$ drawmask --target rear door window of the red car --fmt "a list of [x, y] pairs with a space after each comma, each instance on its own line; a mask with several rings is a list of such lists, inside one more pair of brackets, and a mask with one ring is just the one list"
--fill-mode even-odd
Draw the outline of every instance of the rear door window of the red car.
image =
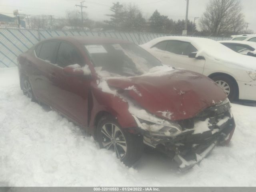
[[38, 57], [47, 62], [53, 62], [57, 45], [58, 45], [58, 42], [56, 41], [44, 42], [42, 44], [42, 48], [40, 50], [40, 54]]

